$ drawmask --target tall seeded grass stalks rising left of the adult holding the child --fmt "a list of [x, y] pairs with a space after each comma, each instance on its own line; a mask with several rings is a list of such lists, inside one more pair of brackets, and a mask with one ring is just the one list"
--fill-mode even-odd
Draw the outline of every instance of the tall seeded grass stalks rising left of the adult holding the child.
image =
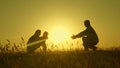
[[21, 42], [19, 44], [11, 43], [11, 41], [7, 39], [6, 44], [0, 44], [0, 51], [9, 53], [25, 52], [26, 44], [23, 37], [21, 37]]

